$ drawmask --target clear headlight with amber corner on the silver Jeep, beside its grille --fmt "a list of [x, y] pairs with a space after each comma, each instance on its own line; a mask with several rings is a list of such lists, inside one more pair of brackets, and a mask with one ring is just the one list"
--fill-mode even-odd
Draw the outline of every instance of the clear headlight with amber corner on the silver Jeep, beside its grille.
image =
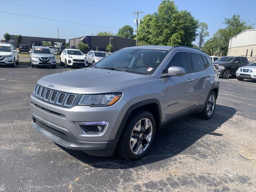
[[116, 103], [121, 96], [122, 93], [83, 95], [79, 105], [110, 106]]

